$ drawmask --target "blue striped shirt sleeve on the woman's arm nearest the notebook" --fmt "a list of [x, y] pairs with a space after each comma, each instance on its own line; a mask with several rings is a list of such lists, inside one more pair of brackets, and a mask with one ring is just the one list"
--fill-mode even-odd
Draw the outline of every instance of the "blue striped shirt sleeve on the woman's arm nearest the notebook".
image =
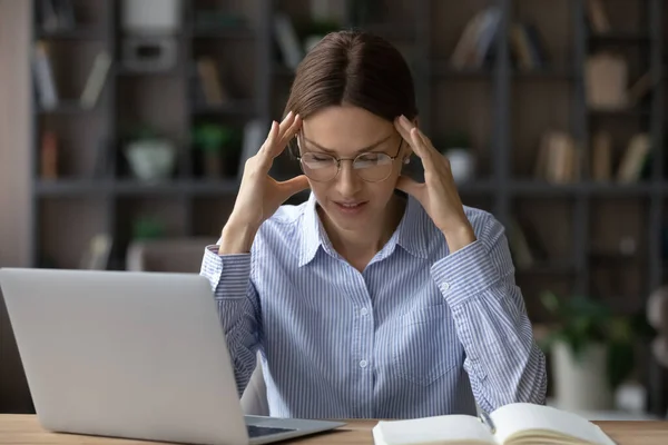
[[487, 215], [478, 239], [435, 263], [466, 352], [475, 399], [488, 412], [514, 402], [544, 404], [544, 355], [533, 339], [503, 226]]

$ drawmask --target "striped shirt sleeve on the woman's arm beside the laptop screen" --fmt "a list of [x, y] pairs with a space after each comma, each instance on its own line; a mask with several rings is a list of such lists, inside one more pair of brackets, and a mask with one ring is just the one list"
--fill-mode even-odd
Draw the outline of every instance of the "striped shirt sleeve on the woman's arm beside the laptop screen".
[[200, 275], [208, 278], [218, 303], [240, 397], [257, 362], [259, 298], [250, 279], [252, 254], [218, 255], [218, 248], [207, 246]]

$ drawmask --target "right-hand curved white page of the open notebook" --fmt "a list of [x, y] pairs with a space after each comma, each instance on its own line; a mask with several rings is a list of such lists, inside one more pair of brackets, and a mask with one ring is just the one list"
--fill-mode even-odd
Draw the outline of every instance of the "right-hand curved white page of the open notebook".
[[501, 444], [518, 432], [533, 429], [557, 432], [592, 444], [615, 445], [597, 425], [551, 406], [510, 404], [490, 414], [490, 418], [497, 427], [497, 441]]

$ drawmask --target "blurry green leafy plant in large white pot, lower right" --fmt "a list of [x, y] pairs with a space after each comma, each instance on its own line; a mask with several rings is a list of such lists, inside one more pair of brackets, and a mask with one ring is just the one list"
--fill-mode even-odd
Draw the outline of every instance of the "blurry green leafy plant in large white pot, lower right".
[[556, 404], [563, 409], [611, 409], [615, 390], [636, 366], [636, 342], [647, 324], [641, 315], [621, 316], [599, 300], [551, 291], [540, 297], [554, 317], [541, 348], [552, 359]]

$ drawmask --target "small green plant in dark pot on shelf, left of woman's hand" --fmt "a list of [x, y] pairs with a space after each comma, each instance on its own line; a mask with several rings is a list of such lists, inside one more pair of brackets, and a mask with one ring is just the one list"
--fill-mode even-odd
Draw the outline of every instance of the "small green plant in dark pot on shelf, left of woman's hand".
[[234, 140], [234, 130], [217, 123], [200, 123], [195, 127], [193, 144], [203, 152], [204, 172], [207, 178], [219, 178], [224, 161]]

